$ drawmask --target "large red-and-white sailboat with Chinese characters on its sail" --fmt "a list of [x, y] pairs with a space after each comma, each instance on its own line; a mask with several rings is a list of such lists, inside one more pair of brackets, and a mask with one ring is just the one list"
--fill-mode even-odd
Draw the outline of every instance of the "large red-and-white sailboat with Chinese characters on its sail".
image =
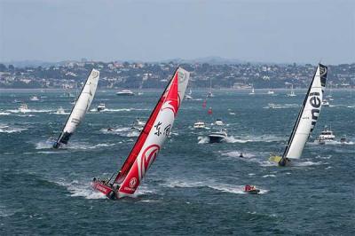
[[185, 96], [190, 73], [177, 67], [145, 127], [118, 173], [108, 180], [94, 178], [91, 186], [109, 199], [132, 196], [170, 135], [177, 110]]

